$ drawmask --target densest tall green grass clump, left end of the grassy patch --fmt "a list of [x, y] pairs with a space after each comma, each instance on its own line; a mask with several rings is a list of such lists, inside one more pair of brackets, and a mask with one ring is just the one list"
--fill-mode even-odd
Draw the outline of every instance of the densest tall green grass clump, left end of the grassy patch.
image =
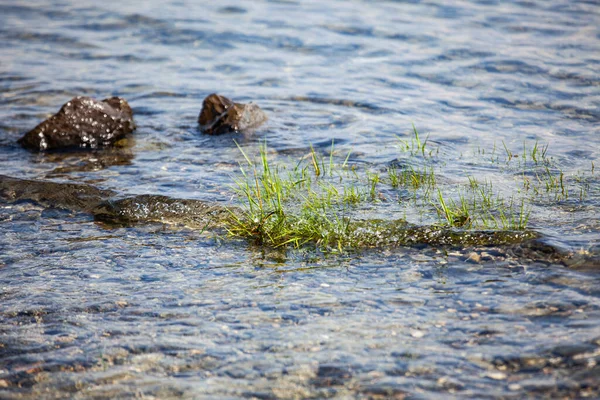
[[360, 203], [364, 195], [355, 185], [343, 186], [340, 191], [324, 179], [324, 175], [332, 175], [333, 159], [329, 169], [325, 168], [311, 147], [308, 163], [284, 171], [269, 163], [266, 146], [261, 147], [258, 163], [243, 154], [247, 167], [240, 168], [242, 177], [237, 179], [235, 191], [244, 208], [241, 215], [231, 212], [227, 228], [231, 235], [275, 247], [312, 242], [342, 250], [349, 244], [349, 219], [344, 210]]

